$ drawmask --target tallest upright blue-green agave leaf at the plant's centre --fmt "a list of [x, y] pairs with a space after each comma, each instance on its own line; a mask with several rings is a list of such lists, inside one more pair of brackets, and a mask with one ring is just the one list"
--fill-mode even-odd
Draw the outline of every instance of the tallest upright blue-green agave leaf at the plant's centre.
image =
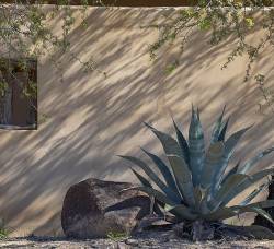
[[205, 142], [203, 128], [201, 126], [198, 115], [192, 108], [192, 119], [189, 129], [189, 146], [190, 146], [190, 168], [193, 177], [193, 185], [199, 183], [201, 173], [205, 161]]

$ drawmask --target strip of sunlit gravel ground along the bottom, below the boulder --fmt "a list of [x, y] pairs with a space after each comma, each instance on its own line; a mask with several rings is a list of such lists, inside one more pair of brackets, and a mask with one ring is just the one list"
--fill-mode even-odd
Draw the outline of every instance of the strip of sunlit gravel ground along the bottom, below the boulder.
[[102, 248], [102, 249], [128, 249], [128, 248], [239, 248], [239, 249], [273, 249], [274, 240], [216, 240], [208, 242], [191, 242], [172, 238], [167, 233], [155, 233], [146, 236], [121, 239], [114, 241], [111, 239], [93, 239], [93, 240], [66, 240], [65, 238], [12, 238], [0, 241], [0, 248], [50, 248], [50, 249], [78, 249], [78, 248]]

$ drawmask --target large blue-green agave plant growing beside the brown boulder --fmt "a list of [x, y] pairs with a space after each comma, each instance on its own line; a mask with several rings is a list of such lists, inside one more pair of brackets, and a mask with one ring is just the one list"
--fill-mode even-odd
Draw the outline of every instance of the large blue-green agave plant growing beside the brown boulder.
[[[144, 149], [144, 153], [156, 165], [161, 176], [144, 161], [132, 156], [122, 156], [137, 165], [146, 175], [140, 175], [132, 168], [141, 182], [140, 187], [134, 189], [153, 197], [165, 215], [167, 213], [170, 214], [176, 223], [182, 224], [183, 222], [187, 227], [191, 226], [189, 230], [191, 230], [194, 240], [213, 237], [213, 234], [216, 235], [218, 227], [224, 226], [244, 232], [246, 235], [254, 237], [274, 238], [274, 234], [265, 227], [237, 227], [224, 224], [224, 220], [246, 212], [256, 213], [274, 223], [272, 217], [263, 210], [274, 206], [274, 200], [252, 203], [270, 181], [262, 183], [260, 187], [255, 183], [274, 174], [274, 168], [260, 169], [258, 173], [250, 174], [256, 163], [273, 152], [274, 147], [262, 151], [244, 164], [239, 162], [236, 166], [228, 167], [236, 145], [251, 127], [239, 130], [226, 139], [229, 118], [224, 121], [224, 114], [225, 108], [214, 124], [207, 150], [205, 149], [198, 109], [192, 108], [189, 141], [186, 141], [174, 120], [176, 139], [145, 123], [160, 140], [169, 166], [160, 157]], [[230, 204], [236, 197], [242, 194], [250, 187], [253, 187], [252, 192], [246, 194], [237, 205]], [[212, 233], [208, 233], [208, 230]]]

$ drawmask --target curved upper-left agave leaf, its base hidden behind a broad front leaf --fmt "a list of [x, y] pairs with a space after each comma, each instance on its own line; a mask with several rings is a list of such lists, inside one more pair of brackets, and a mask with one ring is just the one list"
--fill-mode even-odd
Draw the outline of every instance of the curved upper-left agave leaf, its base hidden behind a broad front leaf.
[[157, 129], [155, 129], [153, 127], [149, 126], [146, 122], [145, 122], [145, 126], [148, 127], [156, 134], [156, 137], [160, 140], [165, 154], [174, 154], [174, 155], [183, 157], [181, 147], [178, 144], [176, 140], [174, 140], [172, 137], [170, 137], [167, 133], [158, 131]]

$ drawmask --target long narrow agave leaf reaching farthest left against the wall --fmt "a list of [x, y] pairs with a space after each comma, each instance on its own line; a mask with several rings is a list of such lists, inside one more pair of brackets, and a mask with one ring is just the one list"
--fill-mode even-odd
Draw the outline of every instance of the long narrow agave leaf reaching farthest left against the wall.
[[174, 192], [170, 187], [168, 187], [141, 159], [138, 159], [133, 156], [121, 156], [121, 157], [140, 167], [148, 175], [148, 177], [160, 188], [160, 190], [163, 191], [173, 201], [181, 200], [181, 197], [176, 192]]

